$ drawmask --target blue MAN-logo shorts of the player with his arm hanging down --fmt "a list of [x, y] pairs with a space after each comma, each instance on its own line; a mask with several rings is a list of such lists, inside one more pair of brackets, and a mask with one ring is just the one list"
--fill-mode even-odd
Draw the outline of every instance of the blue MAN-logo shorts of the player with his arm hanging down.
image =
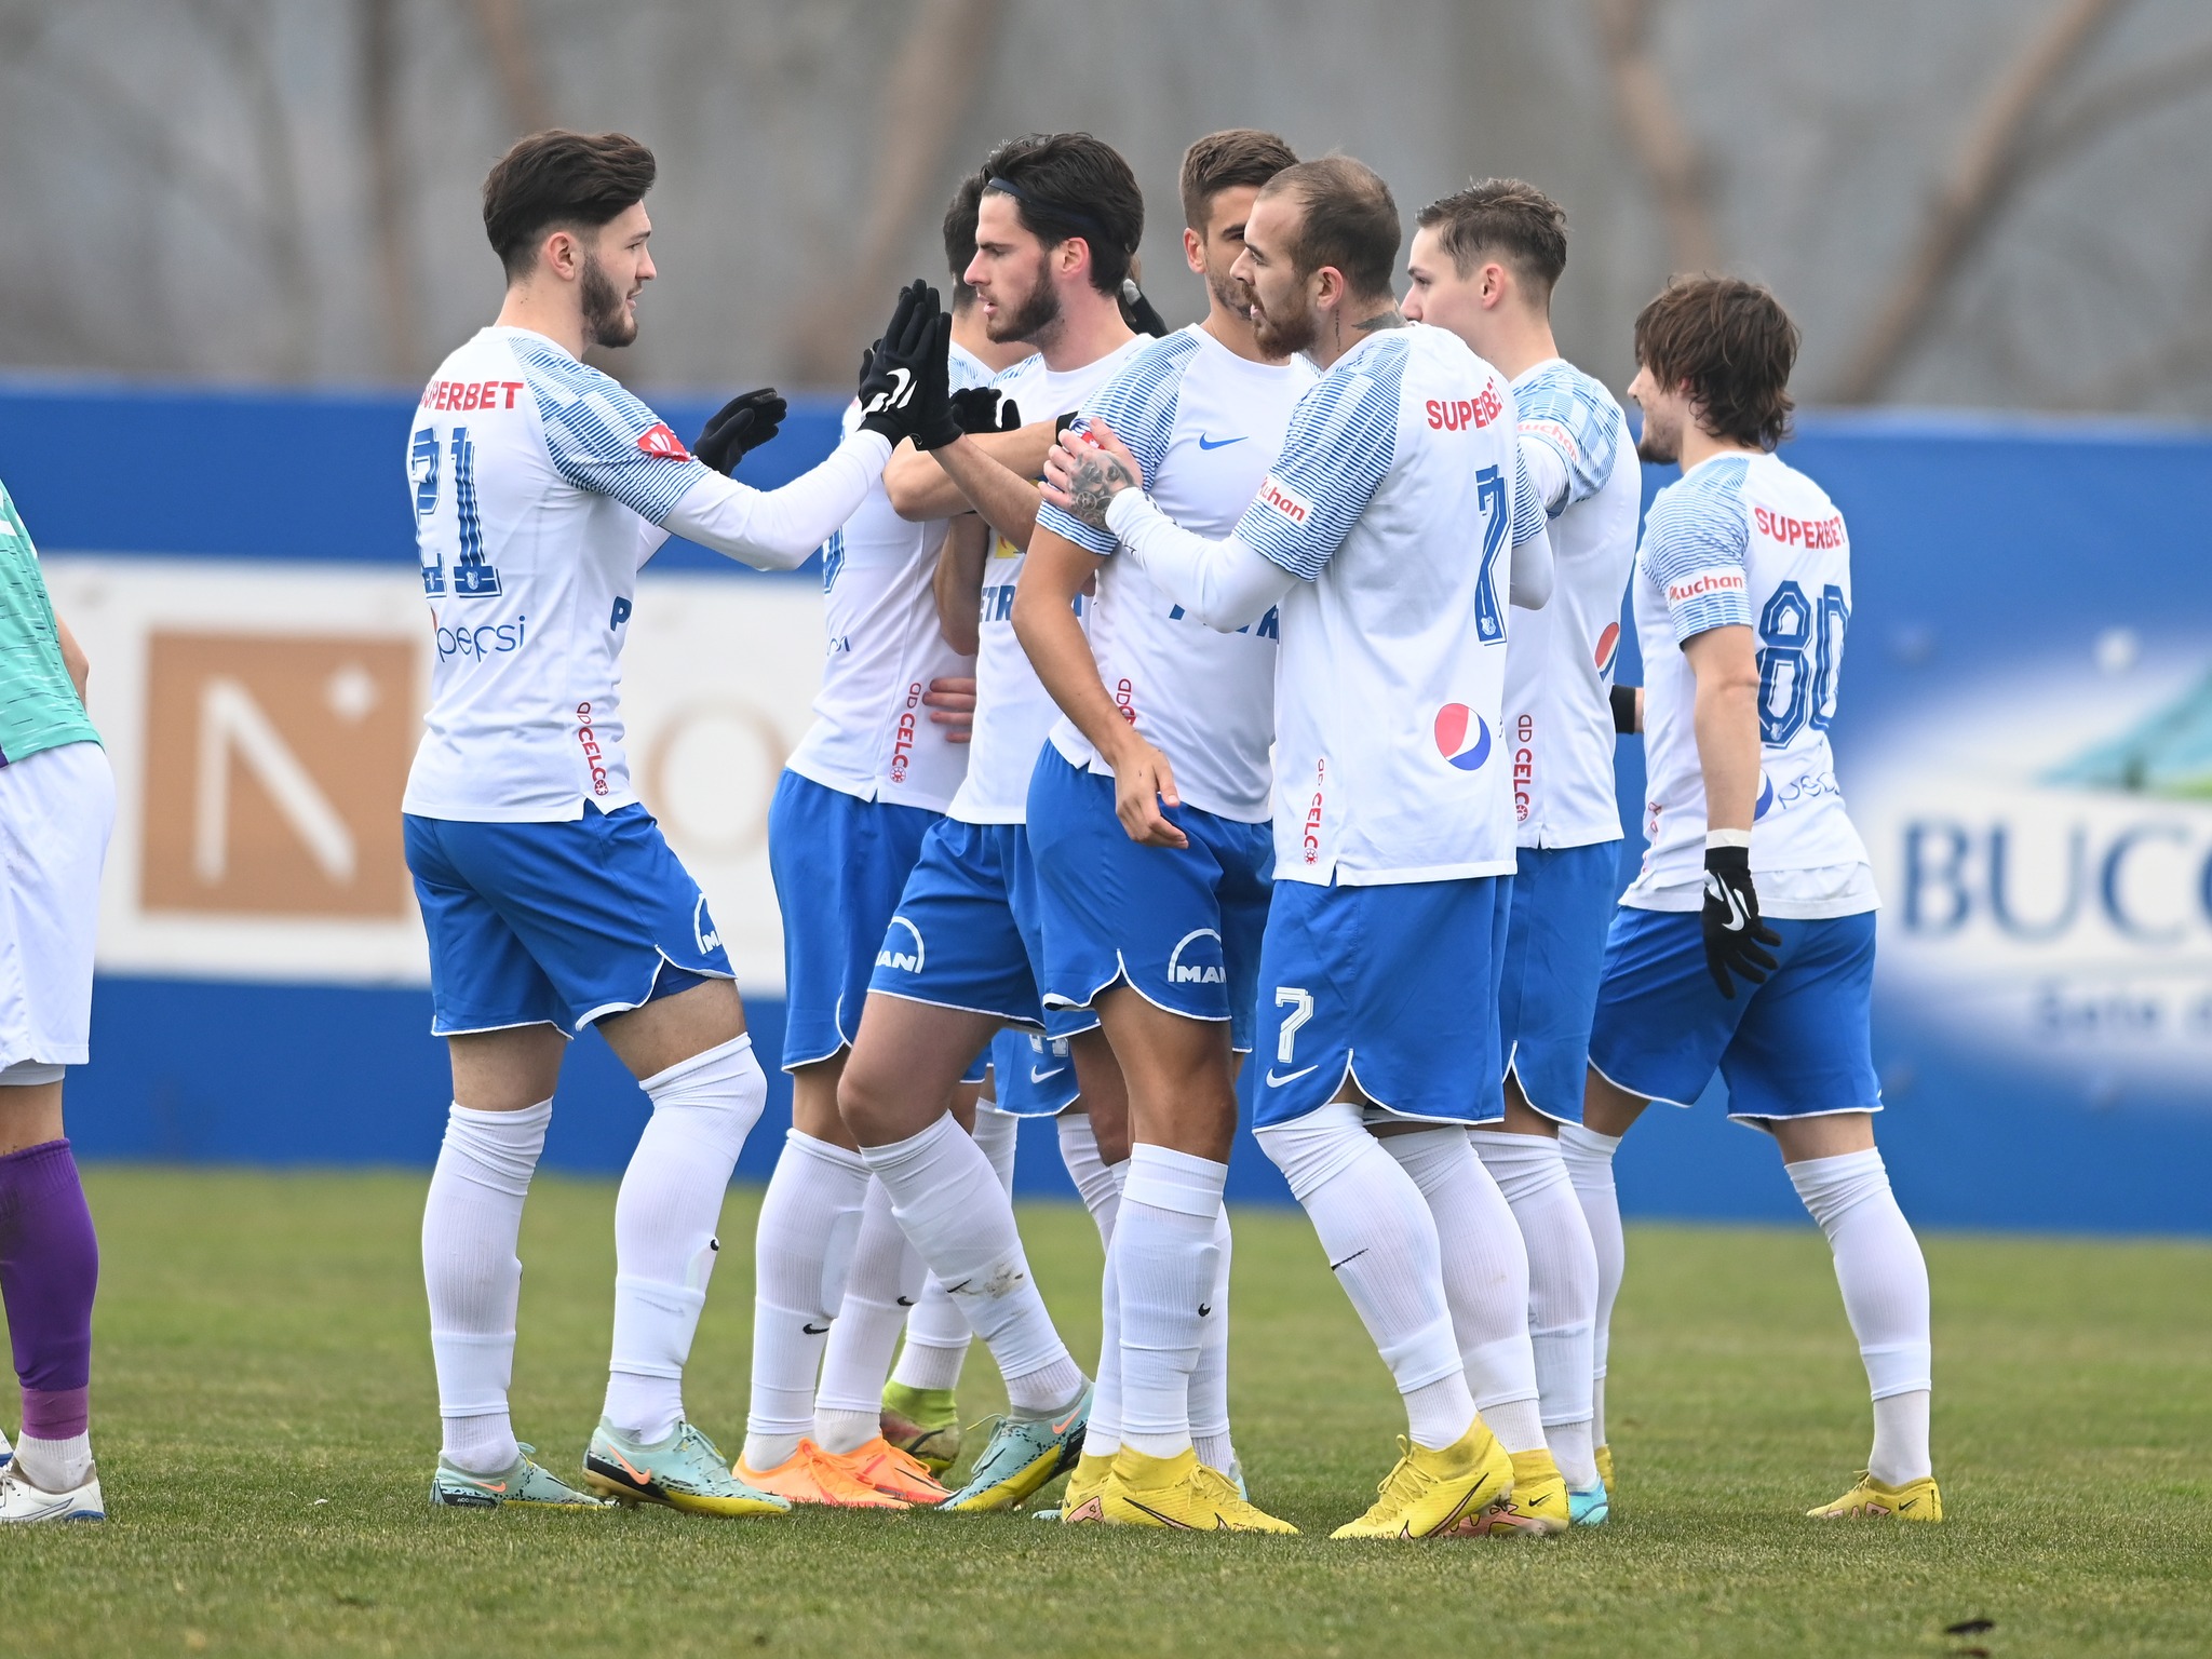
[[1139, 847], [1113, 779], [1046, 743], [1029, 779], [1029, 849], [1044, 911], [1044, 1004], [1088, 1009], [1126, 980], [1190, 1020], [1228, 1020], [1252, 1048], [1259, 940], [1274, 887], [1274, 827], [1168, 807], [1188, 847]]

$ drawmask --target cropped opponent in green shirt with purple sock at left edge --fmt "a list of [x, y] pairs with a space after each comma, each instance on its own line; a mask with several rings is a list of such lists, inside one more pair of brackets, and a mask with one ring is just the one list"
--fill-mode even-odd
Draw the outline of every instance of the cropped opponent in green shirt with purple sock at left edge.
[[0, 1310], [22, 1387], [20, 1444], [0, 1436], [0, 1526], [106, 1517], [91, 1442], [100, 1237], [62, 1128], [115, 825], [86, 672], [0, 489]]

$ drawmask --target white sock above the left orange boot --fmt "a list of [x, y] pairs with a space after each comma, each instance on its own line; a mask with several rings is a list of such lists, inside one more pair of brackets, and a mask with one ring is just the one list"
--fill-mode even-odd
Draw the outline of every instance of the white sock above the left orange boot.
[[814, 1431], [814, 1380], [845, 1301], [865, 1203], [867, 1164], [858, 1152], [796, 1128], [783, 1137], [752, 1241], [748, 1469], [787, 1462]]

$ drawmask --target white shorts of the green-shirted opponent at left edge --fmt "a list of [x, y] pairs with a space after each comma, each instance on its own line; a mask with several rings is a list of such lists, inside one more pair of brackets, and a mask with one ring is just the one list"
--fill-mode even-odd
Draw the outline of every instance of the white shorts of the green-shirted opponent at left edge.
[[82, 1066], [115, 774], [97, 743], [0, 765], [0, 1084]]

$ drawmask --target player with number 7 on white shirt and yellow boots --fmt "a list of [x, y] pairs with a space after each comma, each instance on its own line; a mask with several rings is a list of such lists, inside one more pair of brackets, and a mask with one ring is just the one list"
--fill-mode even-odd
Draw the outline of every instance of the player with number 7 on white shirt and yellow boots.
[[[1467, 1126], [1502, 1113], [1498, 973], [1513, 874], [1506, 606], [1551, 586], [1513, 389], [1389, 292], [1398, 208], [1347, 157], [1279, 173], [1237, 274], [1263, 352], [1323, 369], [1225, 540], [1170, 520], [1108, 422], [1071, 431], [1051, 500], [1104, 524], [1172, 604], [1234, 630], [1281, 606], [1274, 902], [1254, 1128], [1407, 1405], [1409, 1451], [1336, 1537], [1493, 1526], [1515, 1462], [1475, 1411], [1464, 1332], [1526, 1256]], [[1526, 1298], [1517, 1312], [1526, 1349]]]

